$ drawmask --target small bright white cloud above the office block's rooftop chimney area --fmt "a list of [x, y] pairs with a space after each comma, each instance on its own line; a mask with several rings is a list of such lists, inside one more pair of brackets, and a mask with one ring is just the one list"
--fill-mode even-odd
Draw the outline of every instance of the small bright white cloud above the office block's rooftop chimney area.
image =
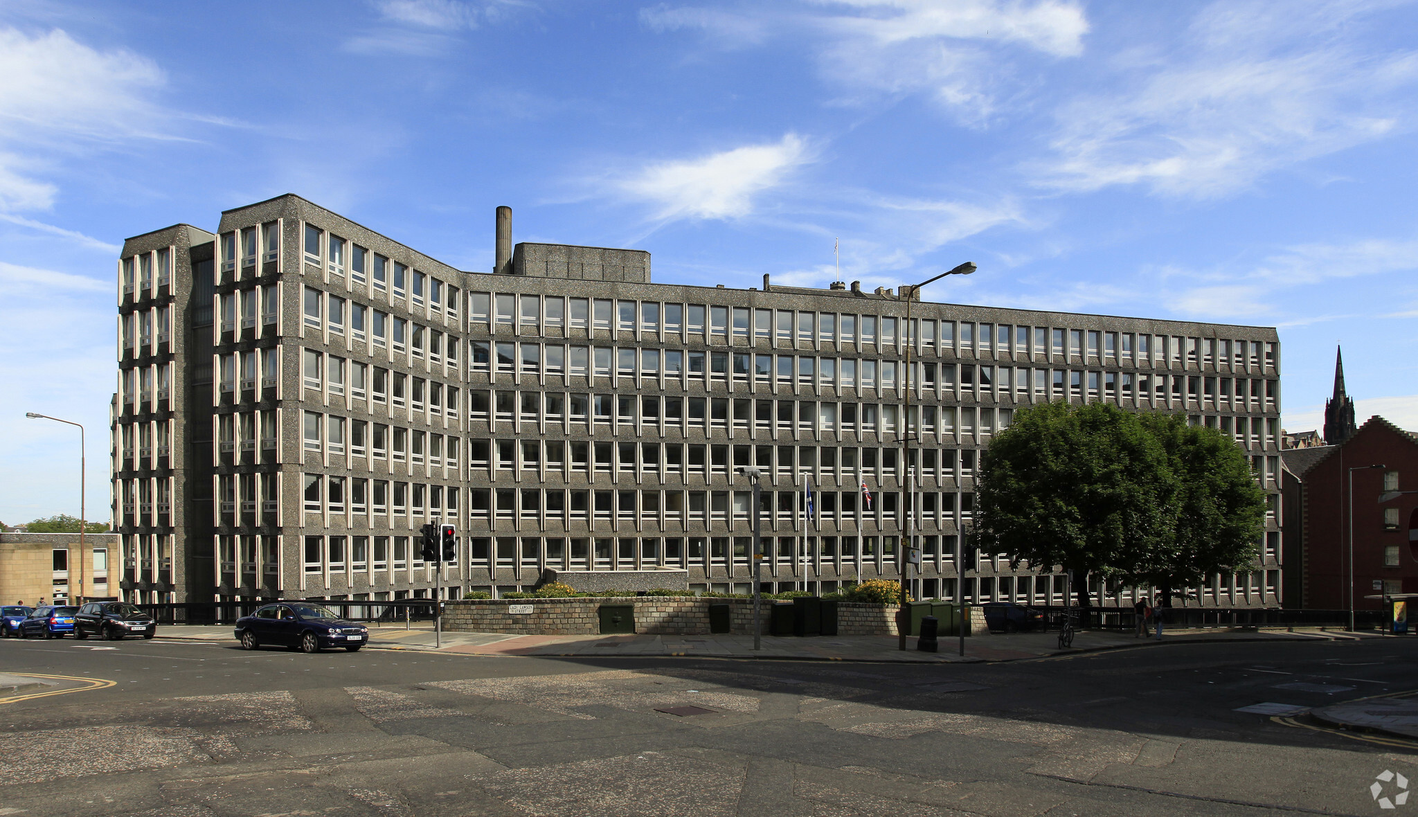
[[757, 194], [811, 160], [807, 142], [788, 133], [778, 142], [649, 165], [620, 186], [655, 206], [659, 220], [739, 218], [753, 211]]

